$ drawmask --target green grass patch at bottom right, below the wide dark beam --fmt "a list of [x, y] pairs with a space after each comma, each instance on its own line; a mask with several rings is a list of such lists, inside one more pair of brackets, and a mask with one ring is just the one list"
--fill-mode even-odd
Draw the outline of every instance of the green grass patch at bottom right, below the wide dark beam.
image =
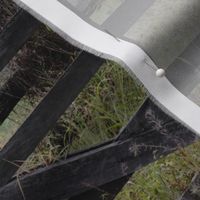
[[200, 170], [199, 153], [196, 143], [141, 169], [117, 200], [178, 200]]

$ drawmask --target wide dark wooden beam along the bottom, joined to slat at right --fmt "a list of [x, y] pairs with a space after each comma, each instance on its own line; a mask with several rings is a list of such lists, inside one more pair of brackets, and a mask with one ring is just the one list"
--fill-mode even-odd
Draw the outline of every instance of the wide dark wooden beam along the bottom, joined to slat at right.
[[99, 191], [102, 186], [123, 179], [160, 156], [198, 139], [150, 100], [127, 127], [124, 131], [129, 138], [113, 140], [25, 175], [2, 187], [0, 198], [22, 200], [23, 193], [29, 200], [75, 199], [91, 189]]

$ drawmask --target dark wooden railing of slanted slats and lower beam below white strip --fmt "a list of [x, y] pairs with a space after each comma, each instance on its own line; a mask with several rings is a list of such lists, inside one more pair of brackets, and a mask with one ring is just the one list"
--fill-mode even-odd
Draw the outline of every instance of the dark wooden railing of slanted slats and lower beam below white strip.
[[[0, 70], [39, 25], [40, 22], [25, 11], [17, 12], [0, 34]], [[112, 200], [139, 168], [199, 139], [147, 98], [116, 138], [16, 178], [22, 164], [17, 161], [26, 160], [35, 150], [103, 62], [99, 57], [80, 51], [0, 151], [1, 200]], [[21, 97], [23, 95], [22, 91]], [[19, 99], [12, 101], [1, 121]], [[199, 180], [198, 176], [195, 180]], [[182, 200], [198, 198], [190, 189]]]

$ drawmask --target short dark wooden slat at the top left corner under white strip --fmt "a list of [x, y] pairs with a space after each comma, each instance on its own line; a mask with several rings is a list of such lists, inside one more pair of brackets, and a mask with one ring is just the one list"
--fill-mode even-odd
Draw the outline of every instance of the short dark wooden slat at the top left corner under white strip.
[[30, 38], [40, 22], [20, 10], [0, 34], [0, 71]]

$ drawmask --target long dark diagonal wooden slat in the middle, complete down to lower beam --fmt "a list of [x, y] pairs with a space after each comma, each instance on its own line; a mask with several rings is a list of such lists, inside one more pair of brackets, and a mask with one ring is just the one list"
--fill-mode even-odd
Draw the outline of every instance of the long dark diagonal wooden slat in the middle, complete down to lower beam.
[[0, 152], [0, 186], [6, 184], [15, 174], [22, 164], [17, 161], [25, 160], [34, 151], [102, 63], [101, 58], [83, 52], [68, 67], [52, 90]]

